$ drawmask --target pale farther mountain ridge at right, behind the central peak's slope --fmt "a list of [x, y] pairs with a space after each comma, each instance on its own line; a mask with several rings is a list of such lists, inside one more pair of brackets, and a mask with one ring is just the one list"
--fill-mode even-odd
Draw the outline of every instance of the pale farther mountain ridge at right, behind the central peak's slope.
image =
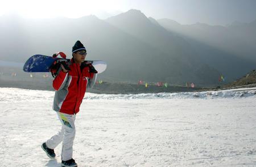
[[233, 22], [226, 27], [203, 23], [181, 25], [175, 24], [175, 21], [170, 19], [157, 21], [171, 32], [180, 33], [230, 54], [256, 62], [256, 49], [254, 47], [256, 20], [251, 23]]

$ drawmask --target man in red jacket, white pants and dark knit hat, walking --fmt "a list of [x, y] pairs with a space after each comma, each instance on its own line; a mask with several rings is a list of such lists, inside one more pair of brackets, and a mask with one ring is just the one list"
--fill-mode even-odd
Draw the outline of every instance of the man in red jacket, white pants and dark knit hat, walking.
[[[84, 98], [86, 86], [96, 78], [97, 71], [91, 64], [86, 64], [86, 49], [80, 41], [72, 48], [73, 58], [68, 65], [60, 65], [59, 72], [53, 80], [55, 97], [53, 110], [62, 124], [61, 130], [51, 139], [42, 144], [42, 149], [51, 159], [55, 158], [54, 148], [63, 142], [61, 152], [61, 166], [77, 166], [73, 160], [73, 140], [75, 139], [75, 118]], [[69, 69], [69, 70], [68, 70]]]

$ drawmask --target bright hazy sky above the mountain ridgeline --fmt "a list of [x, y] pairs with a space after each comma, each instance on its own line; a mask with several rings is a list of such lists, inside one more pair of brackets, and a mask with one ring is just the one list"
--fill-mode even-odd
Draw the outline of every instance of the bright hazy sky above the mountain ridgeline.
[[15, 13], [32, 18], [65, 16], [100, 18], [141, 10], [155, 19], [169, 18], [181, 24], [196, 22], [226, 25], [256, 20], [256, 0], [0, 0], [0, 15]]

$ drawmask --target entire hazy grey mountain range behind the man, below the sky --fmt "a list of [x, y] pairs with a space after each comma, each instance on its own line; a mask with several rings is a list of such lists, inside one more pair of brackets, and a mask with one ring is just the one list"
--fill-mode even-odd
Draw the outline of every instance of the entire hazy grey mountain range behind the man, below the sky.
[[[256, 22], [255, 22], [256, 23]], [[34, 54], [64, 52], [80, 40], [86, 59], [102, 59], [108, 68], [100, 78], [113, 82], [168, 82], [217, 85], [240, 78], [256, 66], [256, 24], [228, 27], [181, 25], [170, 19], [147, 18], [139, 10], [101, 20], [0, 17], [0, 60], [24, 62]]]

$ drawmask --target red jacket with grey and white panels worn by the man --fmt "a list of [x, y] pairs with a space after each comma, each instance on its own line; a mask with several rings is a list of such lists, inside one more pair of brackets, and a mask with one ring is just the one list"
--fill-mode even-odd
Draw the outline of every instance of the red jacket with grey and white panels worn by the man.
[[96, 79], [96, 74], [89, 72], [89, 67], [83, 64], [79, 66], [69, 62], [67, 73], [62, 70], [53, 80], [55, 97], [53, 101], [53, 110], [65, 114], [77, 114], [84, 98], [86, 87], [92, 85]]

